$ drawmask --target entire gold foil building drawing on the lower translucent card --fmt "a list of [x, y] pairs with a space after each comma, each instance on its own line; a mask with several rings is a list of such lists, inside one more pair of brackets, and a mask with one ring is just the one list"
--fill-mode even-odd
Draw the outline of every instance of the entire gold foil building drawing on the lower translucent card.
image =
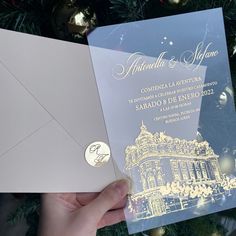
[[148, 131], [142, 122], [135, 144], [125, 149], [125, 169], [135, 183], [128, 209], [148, 219], [217, 202], [236, 187], [222, 174], [207, 141], [173, 138]]

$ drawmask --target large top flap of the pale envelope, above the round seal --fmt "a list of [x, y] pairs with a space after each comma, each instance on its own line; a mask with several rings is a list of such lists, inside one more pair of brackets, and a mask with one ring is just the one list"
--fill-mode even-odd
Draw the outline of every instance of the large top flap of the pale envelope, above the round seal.
[[1, 61], [82, 147], [107, 140], [85, 45], [6, 30]]

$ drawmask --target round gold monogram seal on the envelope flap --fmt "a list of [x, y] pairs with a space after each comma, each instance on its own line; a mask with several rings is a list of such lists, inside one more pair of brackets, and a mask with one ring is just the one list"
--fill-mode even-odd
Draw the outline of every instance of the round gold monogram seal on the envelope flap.
[[110, 148], [104, 142], [93, 142], [85, 150], [85, 159], [93, 167], [105, 165], [110, 157]]

